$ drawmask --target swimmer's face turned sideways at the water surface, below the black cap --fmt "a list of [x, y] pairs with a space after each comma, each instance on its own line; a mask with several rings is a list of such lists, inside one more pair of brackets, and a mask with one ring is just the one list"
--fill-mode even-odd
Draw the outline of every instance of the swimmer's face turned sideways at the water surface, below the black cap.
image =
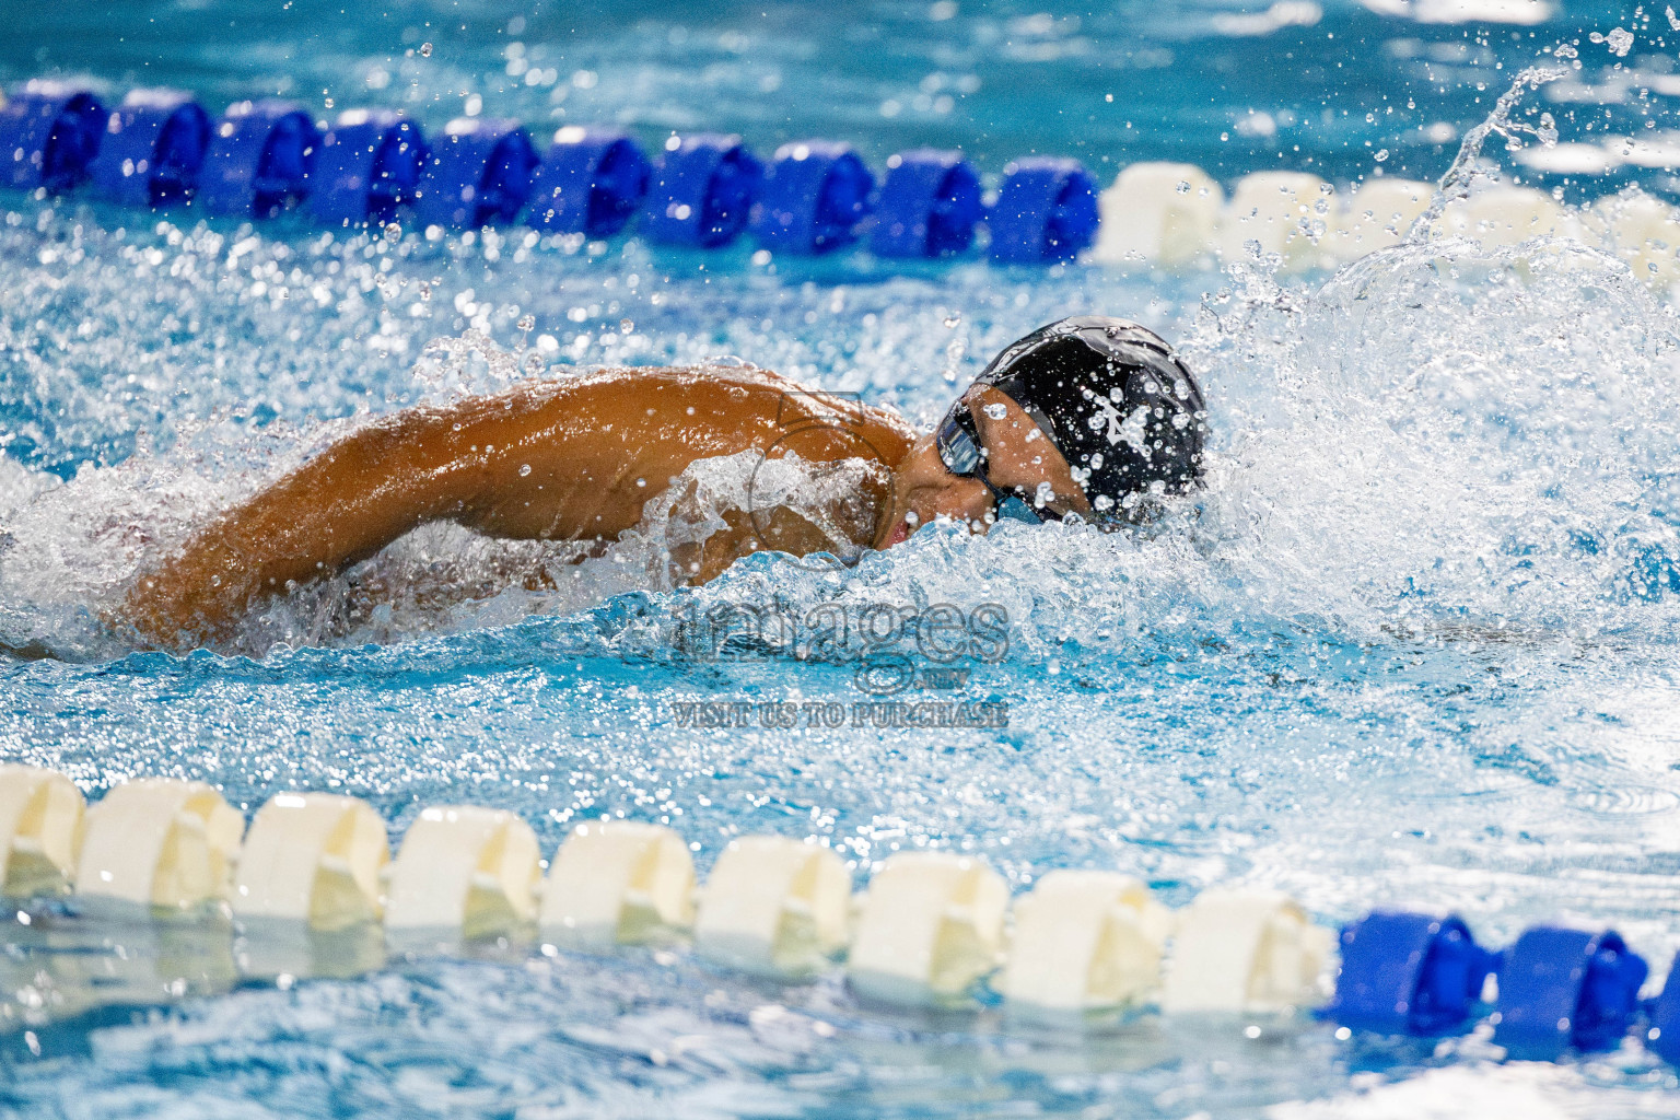
[[[979, 443], [986, 448], [984, 467], [993, 485], [1043, 495], [1040, 512], [1050, 517], [1068, 512], [1092, 516], [1067, 460], [1020, 405], [990, 385], [976, 385], [963, 395], [963, 401], [973, 413]], [[941, 517], [963, 522], [973, 532], [986, 532], [993, 522], [993, 495], [979, 479], [951, 474], [929, 433], [899, 463], [892, 504], [875, 531], [875, 547], [890, 549]]]

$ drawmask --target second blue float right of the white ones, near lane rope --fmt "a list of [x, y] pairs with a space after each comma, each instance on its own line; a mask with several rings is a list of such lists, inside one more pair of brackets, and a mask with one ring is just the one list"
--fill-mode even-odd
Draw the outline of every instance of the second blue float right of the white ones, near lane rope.
[[1648, 972], [1614, 930], [1524, 930], [1499, 967], [1494, 1041], [1514, 1058], [1608, 1049], [1628, 1033]]

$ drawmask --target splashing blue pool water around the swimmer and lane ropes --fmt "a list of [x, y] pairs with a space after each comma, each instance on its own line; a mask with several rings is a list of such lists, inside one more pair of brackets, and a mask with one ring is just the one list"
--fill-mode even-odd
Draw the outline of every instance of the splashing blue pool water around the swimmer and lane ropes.
[[[650, 144], [696, 126], [759, 149], [837, 136], [875, 166], [961, 144], [993, 181], [1028, 151], [1104, 181], [1154, 158], [1225, 181], [1433, 178], [1559, 44], [1581, 67], [1519, 119], [1551, 113], [1566, 143], [1667, 138], [1680, 91], [1663, 13], [1613, 3], [1504, 5], [1532, 24], [1431, 22], [1458, 18], [1446, 0], [386, 7], [13, 0], [0, 81], [388, 104], [428, 128], [464, 111], [613, 121]], [[1625, 54], [1604, 40], [1616, 27], [1635, 34]], [[1492, 154], [1576, 201], [1677, 186], [1660, 166], [1566, 178]], [[230, 650], [134, 653], [102, 620], [148, 557], [358, 416], [581, 364], [732, 354], [929, 421], [1000, 346], [1079, 311], [1179, 339], [1203, 374], [1208, 490], [1147, 534], [931, 529], [855, 568], [756, 557], [699, 591], [664, 588], [648, 546], [627, 542], [531, 593], [524, 574], [563, 556], [428, 529], [276, 603]], [[254, 230], [5, 193], [0, 645], [17, 653], [0, 655], [0, 757], [89, 794], [202, 777], [247, 811], [282, 789], [353, 793], [393, 836], [427, 804], [480, 803], [521, 813], [544, 851], [622, 814], [674, 824], [701, 868], [731, 836], [774, 831], [832, 843], [858, 880], [937, 846], [1016, 890], [1105, 866], [1171, 905], [1280, 887], [1327, 924], [1446, 905], [1494, 944], [1593, 919], [1660, 977], [1680, 947], [1675, 343], [1672, 311], [1616, 260], [1547, 269], [1463, 243], [1304, 279], [889, 269], [517, 228]], [[685, 727], [696, 700], [869, 699], [853, 665], [696, 657], [679, 621], [727, 603], [1000, 604], [1006, 657], [900, 699], [1005, 704], [1008, 727]], [[1156, 1018], [1079, 1036], [998, 1011], [860, 1009], [833, 977], [778, 987], [680, 954], [521, 945], [234, 987], [215, 937], [102, 937], [82, 945], [97, 981], [34, 976], [18, 952], [0, 966], [0, 1108], [1680, 1112], [1673, 1071], [1631, 1044], [1500, 1065], [1475, 1036], [1339, 1041], [1309, 1019], [1260, 1038]], [[171, 967], [181, 984], [160, 997], [148, 977]]]

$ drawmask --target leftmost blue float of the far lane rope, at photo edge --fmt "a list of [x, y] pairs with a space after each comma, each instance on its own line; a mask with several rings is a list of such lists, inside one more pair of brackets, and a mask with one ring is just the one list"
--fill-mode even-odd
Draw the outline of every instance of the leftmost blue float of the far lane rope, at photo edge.
[[0, 181], [49, 191], [87, 178], [99, 154], [106, 111], [84, 86], [34, 79], [0, 106]]

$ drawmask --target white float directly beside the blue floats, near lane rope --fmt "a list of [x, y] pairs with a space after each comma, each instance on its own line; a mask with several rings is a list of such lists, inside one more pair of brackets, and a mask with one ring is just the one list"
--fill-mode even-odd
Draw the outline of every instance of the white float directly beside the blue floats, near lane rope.
[[1284, 1014], [1324, 1001], [1336, 944], [1275, 890], [1208, 888], [1178, 913], [1161, 1011]]

